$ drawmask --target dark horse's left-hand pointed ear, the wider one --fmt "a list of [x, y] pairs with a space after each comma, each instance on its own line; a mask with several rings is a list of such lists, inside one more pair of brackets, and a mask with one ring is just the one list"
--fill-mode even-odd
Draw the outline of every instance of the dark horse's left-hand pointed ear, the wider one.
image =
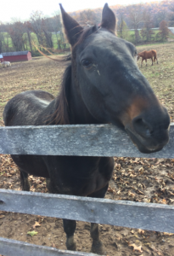
[[61, 13], [62, 13], [62, 20], [65, 27], [65, 34], [68, 38], [69, 43], [73, 46], [76, 44], [81, 32], [83, 31], [82, 26], [74, 20], [70, 15], [65, 12], [65, 9], [62, 7], [62, 4], [59, 3]]

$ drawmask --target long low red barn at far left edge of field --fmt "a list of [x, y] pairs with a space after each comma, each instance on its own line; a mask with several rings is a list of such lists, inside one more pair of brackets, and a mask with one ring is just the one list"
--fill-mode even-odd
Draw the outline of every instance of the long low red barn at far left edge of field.
[[25, 51], [14, 51], [14, 52], [2, 52], [3, 61], [30, 61], [31, 52], [29, 50]]

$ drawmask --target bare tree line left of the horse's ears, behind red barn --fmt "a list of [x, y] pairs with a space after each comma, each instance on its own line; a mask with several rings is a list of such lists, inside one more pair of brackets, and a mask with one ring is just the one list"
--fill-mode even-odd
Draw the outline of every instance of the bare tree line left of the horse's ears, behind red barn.
[[20, 20], [7, 24], [0, 22], [0, 53], [30, 50], [32, 55], [39, 55], [37, 49], [49, 51], [49, 49], [59, 50], [65, 47], [59, 13], [45, 18], [41, 11], [35, 11], [31, 13], [30, 20], [25, 22]]

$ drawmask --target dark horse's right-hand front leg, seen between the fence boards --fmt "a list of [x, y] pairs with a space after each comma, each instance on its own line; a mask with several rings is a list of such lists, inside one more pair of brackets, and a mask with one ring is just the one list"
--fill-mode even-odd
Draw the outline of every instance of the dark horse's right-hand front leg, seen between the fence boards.
[[[97, 198], [104, 198], [104, 195], [108, 189], [108, 186], [105, 186], [103, 189], [98, 190], [97, 192], [94, 192], [91, 195], [88, 195], [90, 197], [97, 197]], [[92, 244], [92, 253], [98, 253], [100, 255], [106, 254], [105, 247], [99, 239], [99, 230], [98, 230], [98, 224], [96, 223], [91, 223], [91, 230], [90, 230], [91, 237], [93, 239], [93, 244]]]

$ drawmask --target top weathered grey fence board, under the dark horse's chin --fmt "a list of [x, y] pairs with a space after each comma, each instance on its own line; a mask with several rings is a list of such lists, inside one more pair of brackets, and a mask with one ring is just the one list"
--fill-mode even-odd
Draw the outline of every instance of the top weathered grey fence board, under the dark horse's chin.
[[126, 133], [114, 125], [0, 127], [0, 154], [174, 158], [174, 124], [170, 142], [152, 154], [141, 154]]

